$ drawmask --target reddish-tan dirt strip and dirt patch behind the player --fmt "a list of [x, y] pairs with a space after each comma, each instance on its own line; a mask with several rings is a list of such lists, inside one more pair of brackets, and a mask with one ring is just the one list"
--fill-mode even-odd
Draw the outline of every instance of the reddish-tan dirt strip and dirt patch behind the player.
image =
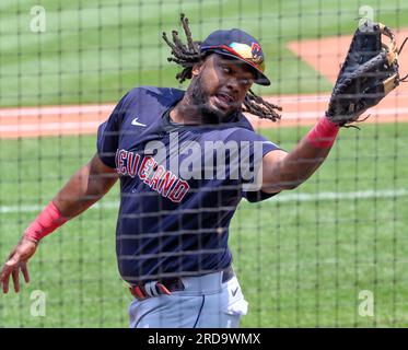
[[[397, 33], [398, 38], [408, 36], [408, 28]], [[288, 47], [312, 68], [335, 82], [351, 36], [289, 43]], [[399, 40], [401, 42], [401, 39]], [[327, 50], [330, 48], [330, 50]], [[408, 51], [400, 57], [401, 74], [408, 72]], [[365, 122], [407, 122], [408, 84], [401, 84], [380, 106], [368, 112], [371, 118]], [[248, 116], [255, 128], [313, 125], [326, 110], [329, 95], [280, 95], [269, 101], [283, 107], [282, 120], [272, 122]], [[0, 109], [0, 138], [93, 135], [114, 108], [107, 105], [44, 106]]]

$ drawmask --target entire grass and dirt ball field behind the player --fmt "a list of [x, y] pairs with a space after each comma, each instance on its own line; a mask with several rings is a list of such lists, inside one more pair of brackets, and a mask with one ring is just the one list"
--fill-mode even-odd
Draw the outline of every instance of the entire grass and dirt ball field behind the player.
[[[179, 86], [161, 34], [180, 30], [180, 12], [195, 39], [229, 27], [259, 38], [272, 84], [255, 90], [284, 113], [279, 124], [254, 124], [290, 150], [325, 110], [368, 7], [400, 44], [404, 0], [2, 0], [1, 259], [94, 154], [96, 127], [120, 96], [141, 84]], [[241, 203], [230, 243], [249, 302], [244, 327], [408, 326], [406, 100], [403, 86], [361, 131], [342, 130], [328, 161], [299, 189]], [[114, 248], [117, 201], [115, 186], [42, 243], [32, 282], [0, 296], [0, 327], [127, 327], [131, 296]], [[31, 313], [35, 290], [47, 296], [44, 317]], [[362, 291], [374, 296], [373, 315], [361, 313]]]

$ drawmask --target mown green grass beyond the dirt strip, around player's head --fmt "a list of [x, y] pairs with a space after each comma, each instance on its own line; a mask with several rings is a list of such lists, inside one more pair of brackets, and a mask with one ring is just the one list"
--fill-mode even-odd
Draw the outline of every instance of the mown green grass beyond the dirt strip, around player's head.
[[[30, 31], [35, 4], [46, 10], [42, 34]], [[273, 81], [259, 92], [329, 91], [331, 85], [285, 45], [351, 34], [361, 5], [372, 5], [375, 19], [392, 27], [408, 25], [408, 4], [400, 0], [2, 0], [0, 106], [116, 102], [133, 85], [177, 85], [177, 67], [166, 60], [170, 48], [161, 33], [182, 31], [182, 11], [197, 40], [236, 26], [259, 38]]]

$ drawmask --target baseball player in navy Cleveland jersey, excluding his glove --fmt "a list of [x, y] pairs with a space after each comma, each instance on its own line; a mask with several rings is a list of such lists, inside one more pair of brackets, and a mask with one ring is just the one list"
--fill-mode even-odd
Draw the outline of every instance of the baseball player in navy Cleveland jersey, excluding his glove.
[[[176, 32], [173, 43], [163, 37], [172, 48], [170, 60], [184, 68], [177, 79], [191, 80], [187, 90], [139, 86], [120, 100], [98, 128], [96, 154], [10, 254], [0, 277], [4, 293], [10, 278], [19, 292], [20, 271], [30, 281], [27, 260], [42, 238], [119, 179], [116, 253], [135, 296], [130, 327], [238, 327], [247, 302], [228, 238], [241, 199], [264, 200], [305, 182], [328, 155], [345, 120], [333, 121], [339, 112], [330, 102], [291, 152], [280, 149], [243, 115], [279, 118], [278, 106], [249, 90], [254, 83], [270, 84], [258, 40], [234, 28], [197, 43], [183, 15], [182, 23], [187, 45]], [[219, 153], [224, 163], [214, 165]]]

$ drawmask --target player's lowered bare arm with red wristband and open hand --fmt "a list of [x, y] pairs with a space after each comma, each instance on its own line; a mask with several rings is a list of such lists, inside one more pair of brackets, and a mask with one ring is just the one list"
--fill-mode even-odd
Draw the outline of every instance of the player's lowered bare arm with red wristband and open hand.
[[20, 291], [20, 271], [25, 282], [30, 282], [27, 260], [35, 254], [39, 240], [95, 203], [112, 188], [117, 178], [115, 170], [103, 164], [95, 154], [69, 179], [26, 229], [19, 244], [9, 255], [0, 275], [3, 293], [9, 291], [10, 276], [13, 279], [14, 291], [16, 293]]

